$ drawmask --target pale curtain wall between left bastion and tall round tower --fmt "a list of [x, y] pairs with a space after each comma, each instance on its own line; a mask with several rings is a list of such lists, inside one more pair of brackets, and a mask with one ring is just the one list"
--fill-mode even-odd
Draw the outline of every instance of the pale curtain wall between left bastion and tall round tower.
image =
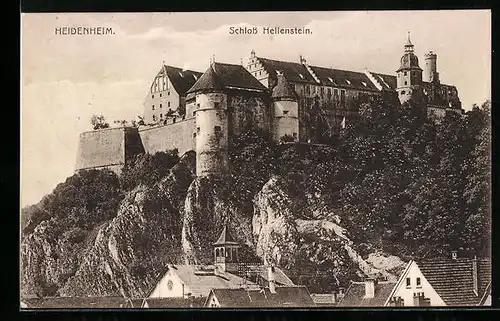
[[179, 155], [195, 149], [195, 119], [189, 118], [172, 124], [139, 130], [146, 153], [165, 152], [177, 148]]

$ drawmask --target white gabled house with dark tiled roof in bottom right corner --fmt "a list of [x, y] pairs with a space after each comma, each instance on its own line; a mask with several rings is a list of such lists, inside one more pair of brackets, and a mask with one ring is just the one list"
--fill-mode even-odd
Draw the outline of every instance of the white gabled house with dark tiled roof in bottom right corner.
[[457, 258], [412, 260], [387, 305], [476, 306], [487, 301], [491, 261]]

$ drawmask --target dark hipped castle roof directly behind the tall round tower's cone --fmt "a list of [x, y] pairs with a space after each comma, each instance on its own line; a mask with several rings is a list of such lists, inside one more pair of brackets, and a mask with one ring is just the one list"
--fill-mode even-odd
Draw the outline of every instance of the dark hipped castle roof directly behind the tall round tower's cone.
[[212, 63], [187, 93], [224, 89], [267, 91], [267, 88], [255, 79], [245, 67], [215, 62]]

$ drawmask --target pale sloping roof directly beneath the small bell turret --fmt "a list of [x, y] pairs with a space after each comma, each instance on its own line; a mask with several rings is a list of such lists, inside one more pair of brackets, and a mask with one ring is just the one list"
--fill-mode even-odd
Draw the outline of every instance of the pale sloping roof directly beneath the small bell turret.
[[189, 287], [194, 297], [207, 296], [213, 288], [240, 288], [243, 285], [258, 287], [255, 283], [228, 272], [214, 274], [213, 267], [205, 270], [193, 265], [175, 265], [171, 267], [182, 282]]

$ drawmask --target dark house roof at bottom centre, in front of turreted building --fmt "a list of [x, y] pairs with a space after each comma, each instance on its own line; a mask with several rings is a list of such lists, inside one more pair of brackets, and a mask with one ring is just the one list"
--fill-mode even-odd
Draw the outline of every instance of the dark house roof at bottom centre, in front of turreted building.
[[313, 307], [315, 306], [304, 286], [276, 287], [276, 293], [269, 288], [260, 290], [212, 289], [221, 307]]

